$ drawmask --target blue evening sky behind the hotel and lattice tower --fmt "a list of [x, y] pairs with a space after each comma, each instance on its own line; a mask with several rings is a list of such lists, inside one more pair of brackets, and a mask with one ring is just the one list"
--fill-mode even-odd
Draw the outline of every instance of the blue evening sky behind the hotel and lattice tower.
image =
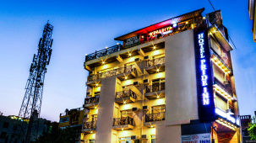
[[[213, 0], [237, 45], [232, 61], [240, 114], [256, 110], [256, 43], [247, 0]], [[2, 1], [0, 4], [0, 112], [19, 114], [30, 63], [47, 20], [53, 24], [52, 59], [46, 73], [41, 117], [58, 121], [65, 109], [82, 107], [85, 54], [115, 45], [113, 39], [150, 24], [205, 8], [198, 1]]]

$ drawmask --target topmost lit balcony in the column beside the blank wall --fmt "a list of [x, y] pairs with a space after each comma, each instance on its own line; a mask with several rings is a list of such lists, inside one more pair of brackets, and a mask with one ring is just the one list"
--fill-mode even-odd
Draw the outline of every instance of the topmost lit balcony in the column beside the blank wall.
[[150, 74], [165, 71], [165, 57], [146, 61], [145, 70]]

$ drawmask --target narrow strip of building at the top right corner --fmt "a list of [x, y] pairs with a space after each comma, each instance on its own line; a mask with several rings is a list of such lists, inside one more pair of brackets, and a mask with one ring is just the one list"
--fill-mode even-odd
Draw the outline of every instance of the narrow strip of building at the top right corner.
[[248, 12], [249, 12], [249, 17], [251, 20], [253, 20], [253, 40], [254, 42], [256, 42], [256, 32], [255, 32], [255, 29], [256, 29], [256, 3], [255, 3], [255, 0], [249, 0], [249, 3], [248, 3]]

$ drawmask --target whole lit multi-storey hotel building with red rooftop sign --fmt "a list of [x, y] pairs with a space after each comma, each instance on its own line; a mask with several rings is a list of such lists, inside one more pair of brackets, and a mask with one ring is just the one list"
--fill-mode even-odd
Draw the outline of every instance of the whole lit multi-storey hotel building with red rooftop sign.
[[85, 56], [81, 142], [241, 142], [232, 47], [221, 11], [203, 11]]

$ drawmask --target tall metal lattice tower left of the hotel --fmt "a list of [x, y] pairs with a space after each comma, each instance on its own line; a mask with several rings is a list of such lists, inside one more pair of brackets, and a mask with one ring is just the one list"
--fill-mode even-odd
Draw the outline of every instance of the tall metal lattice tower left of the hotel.
[[42, 37], [38, 44], [37, 55], [34, 55], [30, 66], [30, 77], [26, 82], [25, 96], [19, 110], [19, 117], [30, 119], [27, 135], [30, 136], [31, 124], [41, 112], [41, 99], [43, 93], [46, 66], [49, 65], [52, 55], [52, 29], [51, 24], [45, 25]]

